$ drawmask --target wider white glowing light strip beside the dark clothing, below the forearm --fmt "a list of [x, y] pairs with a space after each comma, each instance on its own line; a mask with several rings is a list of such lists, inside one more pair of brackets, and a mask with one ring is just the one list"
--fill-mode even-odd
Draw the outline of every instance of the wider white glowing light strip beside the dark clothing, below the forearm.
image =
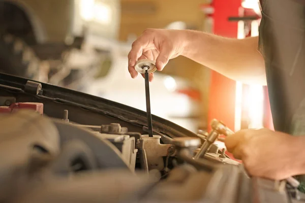
[[249, 128], [263, 128], [264, 92], [260, 85], [250, 85], [247, 98], [249, 104]]

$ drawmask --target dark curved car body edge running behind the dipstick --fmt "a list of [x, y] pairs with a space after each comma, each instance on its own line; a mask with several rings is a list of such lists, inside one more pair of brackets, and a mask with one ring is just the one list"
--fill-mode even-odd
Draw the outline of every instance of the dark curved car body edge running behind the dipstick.
[[[63, 118], [62, 111], [69, 110], [69, 119], [73, 122], [88, 125], [120, 123], [131, 130], [147, 126], [146, 112], [116, 103], [114, 101], [85, 94], [82, 92], [36, 82], [42, 88], [37, 94], [31, 91], [25, 78], [0, 73], [0, 96], [13, 96], [16, 102], [37, 102], [44, 104], [44, 114]], [[30, 89], [30, 90], [29, 90]], [[145, 96], [145, 95], [143, 95]], [[197, 137], [195, 133], [166, 119], [152, 115], [153, 128], [157, 134], [175, 137]]]

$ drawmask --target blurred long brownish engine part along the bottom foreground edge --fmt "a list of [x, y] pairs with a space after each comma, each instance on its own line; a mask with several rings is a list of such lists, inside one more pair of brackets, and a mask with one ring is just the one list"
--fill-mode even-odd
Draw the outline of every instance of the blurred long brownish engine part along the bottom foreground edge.
[[25, 185], [14, 203], [115, 203], [144, 202], [143, 193], [156, 183], [153, 177], [124, 170], [105, 170], [73, 177], [48, 177], [43, 182]]

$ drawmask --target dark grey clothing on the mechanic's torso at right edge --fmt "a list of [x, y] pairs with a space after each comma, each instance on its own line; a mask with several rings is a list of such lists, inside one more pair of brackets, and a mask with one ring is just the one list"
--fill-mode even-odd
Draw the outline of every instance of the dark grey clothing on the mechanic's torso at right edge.
[[275, 129], [305, 134], [305, 4], [265, 0], [259, 51], [265, 59]]

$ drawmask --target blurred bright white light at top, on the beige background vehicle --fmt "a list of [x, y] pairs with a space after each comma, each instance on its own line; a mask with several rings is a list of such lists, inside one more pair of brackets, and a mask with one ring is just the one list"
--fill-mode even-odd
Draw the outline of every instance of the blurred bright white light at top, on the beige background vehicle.
[[109, 5], [96, 0], [81, 0], [80, 15], [85, 21], [96, 21], [108, 24], [111, 21], [111, 8]]

